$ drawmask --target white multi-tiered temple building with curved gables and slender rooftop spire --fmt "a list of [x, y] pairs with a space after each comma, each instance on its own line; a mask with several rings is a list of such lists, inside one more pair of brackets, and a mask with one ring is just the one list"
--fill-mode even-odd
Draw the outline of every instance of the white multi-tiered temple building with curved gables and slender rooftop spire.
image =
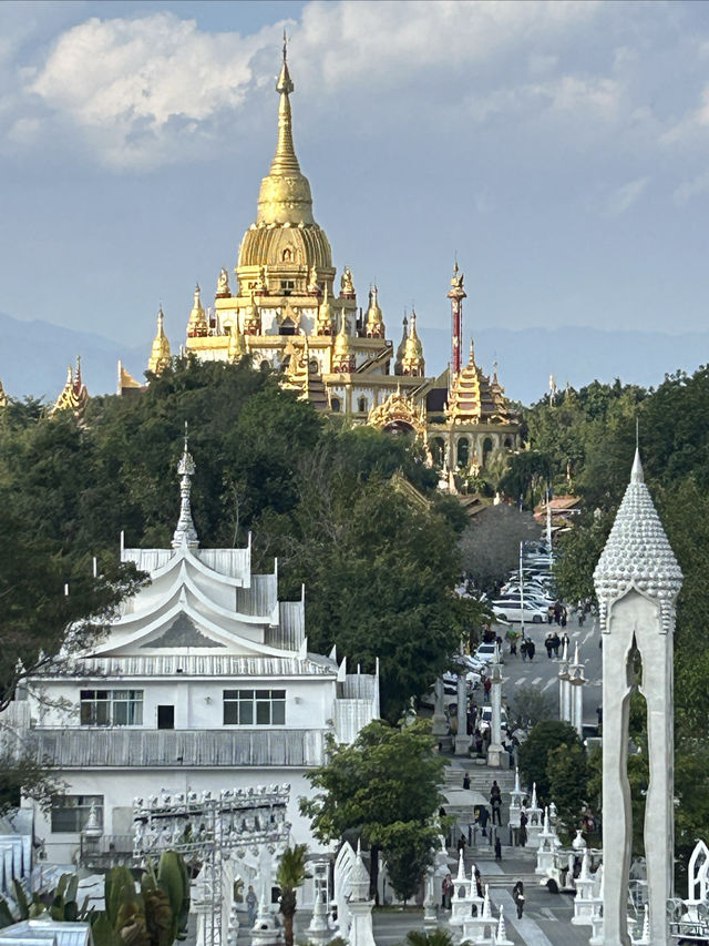
[[66, 784], [49, 815], [35, 812], [51, 861], [78, 856], [92, 808], [102, 850], [130, 851], [133, 798], [163, 789], [289, 783], [294, 838], [310, 843], [298, 797], [325, 762], [326, 734], [349, 743], [379, 716], [378, 675], [347, 673], [335, 651], [308, 653], [305, 591], [279, 601], [277, 568], [251, 572], [250, 538], [199, 548], [186, 439], [178, 472], [172, 548], [121, 549], [151, 583], [90, 653], [30, 681], [23, 739]]

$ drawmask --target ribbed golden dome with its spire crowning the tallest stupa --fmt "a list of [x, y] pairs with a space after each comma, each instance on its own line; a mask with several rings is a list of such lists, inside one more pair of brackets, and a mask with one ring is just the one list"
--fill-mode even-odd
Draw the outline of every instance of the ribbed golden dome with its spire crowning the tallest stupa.
[[332, 251], [312, 216], [312, 195], [308, 179], [300, 171], [292, 143], [292, 115], [289, 95], [294, 83], [286, 61], [276, 83], [278, 105], [278, 142], [270, 171], [261, 181], [256, 223], [244, 234], [236, 273], [239, 295], [248, 293], [261, 266], [268, 266], [268, 291], [280, 295], [284, 278], [294, 278], [297, 288], [306, 291], [315, 268], [318, 277], [332, 283]]

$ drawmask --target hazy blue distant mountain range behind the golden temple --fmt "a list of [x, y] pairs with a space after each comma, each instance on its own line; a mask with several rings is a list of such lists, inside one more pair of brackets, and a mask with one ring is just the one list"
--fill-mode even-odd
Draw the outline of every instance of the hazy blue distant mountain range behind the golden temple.
[[[49, 322], [22, 322], [0, 313], [2, 347], [0, 380], [13, 397], [33, 395], [53, 400], [66, 377], [68, 365], [81, 355], [82, 375], [90, 394], [116, 388], [119, 358], [140, 380], [152, 338], [133, 347], [92, 332], [75, 332]], [[450, 358], [443, 329], [419, 326], [427, 368], [440, 374]], [[398, 344], [395, 336], [395, 344]], [[173, 339], [177, 349], [177, 339]], [[467, 359], [467, 350], [463, 360]], [[709, 362], [709, 332], [667, 335], [659, 332], [603, 332], [597, 328], [481, 328], [475, 334], [475, 358], [486, 373], [499, 362], [499, 377], [508, 397], [531, 404], [548, 393], [549, 375], [558, 388], [568, 382], [583, 387], [594, 378], [656, 387], [678, 368], [691, 373]]]

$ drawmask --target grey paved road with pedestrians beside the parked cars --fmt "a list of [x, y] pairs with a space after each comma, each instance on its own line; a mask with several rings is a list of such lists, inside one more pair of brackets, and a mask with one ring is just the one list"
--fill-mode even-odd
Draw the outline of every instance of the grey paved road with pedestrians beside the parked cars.
[[[518, 624], [514, 624], [518, 629]], [[493, 629], [504, 639], [506, 627], [494, 624]], [[561, 628], [555, 624], [553, 629], [563, 633]], [[511, 657], [505, 653], [504, 660], [504, 677], [505, 684], [503, 689], [504, 699], [512, 702], [515, 690], [523, 684], [532, 684], [540, 686], [543, 692], [551, 693], [555, 698], [558, 694], [558, 660], [552, 658], [549, 660], [544, 648], [544, 639], [549, 631], [547, 624], [526, 624], [525, 634], [531, 637], [536, 647], [534, 660], [523, 660], [521, 654]], [[578, 627], [578, 620], [572, 616], [566, 625], [566, 633], [571, 638], [571, 653], [576, 642], [579, 648], [579, 660], [584, 664], [584, 673], [588, 683], [584, 686], [584, 722], [597, 723], [596, 708], [600, 705], [602, 695], [602, 679], [600, 665], [602, 653], [598, 647], [600, 633], [598, 631], [598, 621], [594, 618], [587, 618], [583, 627]], [[505, 651], [508, 651], [505, 644]], [[518, 651], [518, 648], [517, 648]]]

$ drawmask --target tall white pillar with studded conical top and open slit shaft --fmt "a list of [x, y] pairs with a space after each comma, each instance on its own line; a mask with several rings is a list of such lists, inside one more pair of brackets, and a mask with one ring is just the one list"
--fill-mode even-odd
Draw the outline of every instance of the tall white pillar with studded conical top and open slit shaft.
[[668, 946], [665, 904], [672, 894], [672, 634], [682, 574], [643, 477], [636, 450], [608, 541], [594, 573], [603, 633], [604, 946], [629, 946], [627, 929], [631, 811], [628, 713], [635, 651], [643, 661], [649, 789], [645, 855], [650, 942]]

